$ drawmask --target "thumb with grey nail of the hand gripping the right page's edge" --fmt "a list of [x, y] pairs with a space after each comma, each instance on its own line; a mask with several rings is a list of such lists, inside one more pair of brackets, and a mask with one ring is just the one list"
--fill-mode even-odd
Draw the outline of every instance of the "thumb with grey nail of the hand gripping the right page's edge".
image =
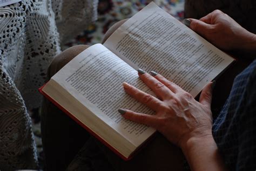
[[206, 37], [209, 30], [213, 29], [213, 25], [202, 22], [198, 19], [190, 18], [190, 29], [197, 32], [199, 35]]

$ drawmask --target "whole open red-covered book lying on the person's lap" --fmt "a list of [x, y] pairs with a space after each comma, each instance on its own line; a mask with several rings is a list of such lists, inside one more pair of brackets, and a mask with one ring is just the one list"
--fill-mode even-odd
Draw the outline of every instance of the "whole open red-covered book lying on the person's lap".
[[137, 73], [139, 68], [153, 70], [196, 97], [232, 61], [152, 2], [104, 45], [78, 54], [40, 91], [123, 159], [129, 159], [156, 130], [118, 113], [119, 108], [127, 108], [154, 114], [124, 92], [124, 81], [154, 95]]

